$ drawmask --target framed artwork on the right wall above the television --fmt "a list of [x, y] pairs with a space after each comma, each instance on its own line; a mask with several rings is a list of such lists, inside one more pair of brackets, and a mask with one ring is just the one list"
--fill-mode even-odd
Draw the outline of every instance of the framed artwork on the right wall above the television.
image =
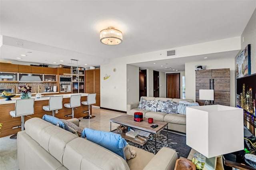
[[251, 45], [248, 44], [236, 58], [236, 78], [251, 74]]

